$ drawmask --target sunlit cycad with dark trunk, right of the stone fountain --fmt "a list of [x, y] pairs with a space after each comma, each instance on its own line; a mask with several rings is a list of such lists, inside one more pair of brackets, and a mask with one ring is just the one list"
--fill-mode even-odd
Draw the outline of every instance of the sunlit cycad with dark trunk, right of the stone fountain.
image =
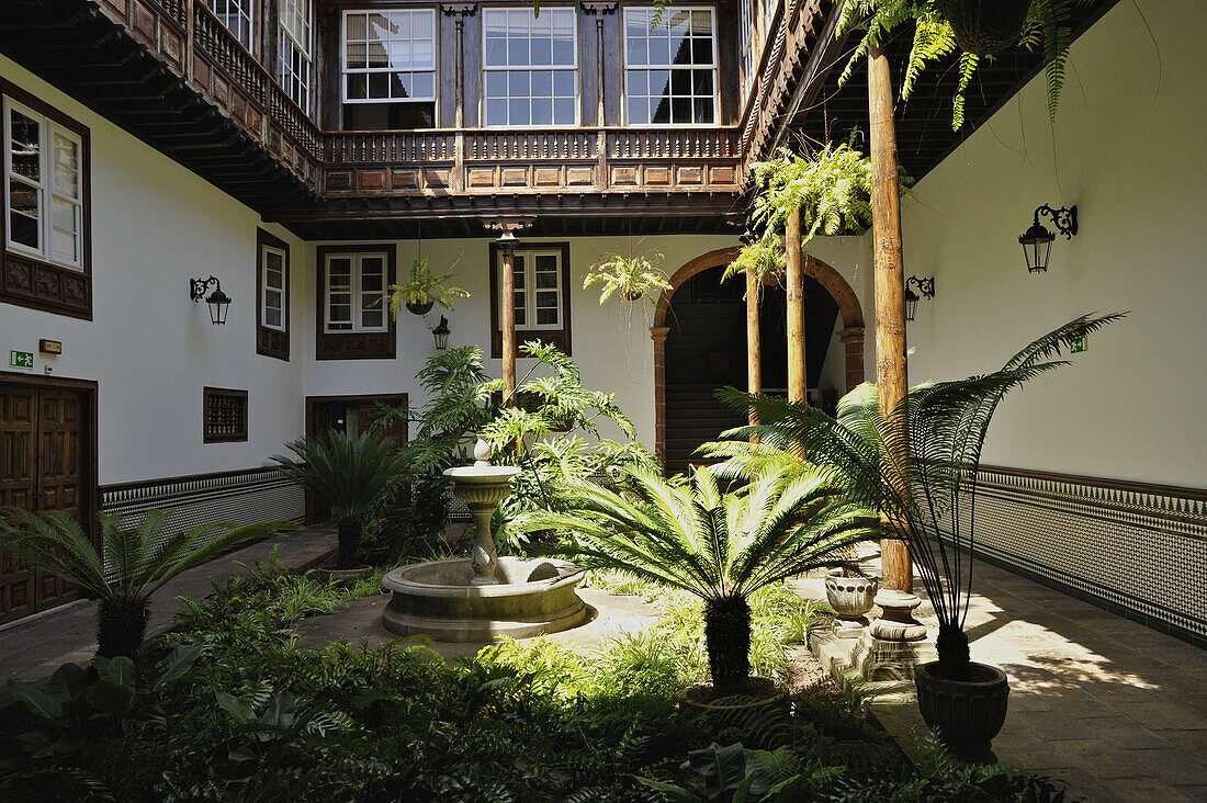
[[550, 551], [588, 569], [628, 572], [704, 600], [704, 633], [713, 688], [746, 691], [751, 609], [760, 588], [812, 569], [841, 566], [845, 547], [879, 537], [880, 522], [850, 504], [821, 473], [772, 473], [722, 493], [709, 469], [672, 484], [626, 469], [631, 490], [570, 482], [568, 513], [524, 517], [524, 529], [555, 529]]

